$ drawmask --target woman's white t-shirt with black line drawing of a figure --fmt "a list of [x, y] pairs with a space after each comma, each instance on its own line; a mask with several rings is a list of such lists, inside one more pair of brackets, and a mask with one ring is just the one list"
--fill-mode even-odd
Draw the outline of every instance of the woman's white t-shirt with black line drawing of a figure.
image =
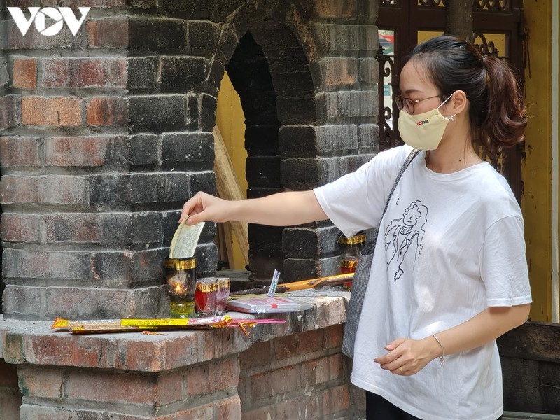
[[[346, 237], [379, 225], [386, 197], [412, 148], [379, 153], [356, 172], [316, 188]], [[422, 339], [487, 307], [531, 302], [519, 205], [488, 163], [453, 174], [419, 153], [381, 222], [353, 358], [351, 381], [429, 420], [496, 420], [503, 412], [496, 342], [432, 360], [412, 376], [374, 363], [394, 339]]]

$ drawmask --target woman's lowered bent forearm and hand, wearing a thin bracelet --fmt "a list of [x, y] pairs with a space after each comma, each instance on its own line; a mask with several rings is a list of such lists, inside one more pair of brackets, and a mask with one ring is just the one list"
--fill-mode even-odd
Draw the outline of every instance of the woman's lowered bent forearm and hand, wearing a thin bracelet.
[[384, 356], [374, 359], [393, 374], [411, 375], [431, 360], [448, 354], [475, 349], [500, 337], [527, 320], [530, 304], [489, 307], [468, 321], [423, 339], [398, 338], [387, 344]]

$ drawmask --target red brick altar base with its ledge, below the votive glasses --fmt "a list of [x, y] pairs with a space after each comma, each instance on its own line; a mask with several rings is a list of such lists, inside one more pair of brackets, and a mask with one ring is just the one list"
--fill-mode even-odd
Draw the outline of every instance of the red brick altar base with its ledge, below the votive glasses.
[[239, 328], [71, 335], [52, 321], [2, 319], [0, 372], [17, 367], [17, 377], [0, 409], [11, 407], [8, 420], [352, 418], [340, 353], [349, 293], [302, 292], [292, 295], [307, 295], [311, 309], [258, 315], [286, 323], [248, 337]]

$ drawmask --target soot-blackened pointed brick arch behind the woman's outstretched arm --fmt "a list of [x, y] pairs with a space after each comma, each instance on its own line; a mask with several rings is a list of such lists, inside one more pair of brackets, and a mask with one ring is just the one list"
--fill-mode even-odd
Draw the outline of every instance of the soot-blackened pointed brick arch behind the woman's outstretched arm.
[[[295, 12], [292, 10], [292, 13]], [[309, 189], [318, 184], [314, 161], [316, 130], [313, 128], [317, 123], [316, 83], [305, 50], [312, 43], [303, 45], [300, 36], [282, 20], [289, 20], [286, 10], [280, 13], [276, 10], [276, 14], [274, 10], [266, 10], [258, 16], [253, 14], [245, 16], [245, 20], [239, 19], [235, 27], [226, 24], [221, 29], [221, 43], [216, 53], [216, 57], [225, 60], [223, 66], [244, 110], [248, 197], [286, 189]], [[234, 50], [231, 48], [232, 33], [238, 38]], [[214, 80], [220, 76], [216, 72]], [[305, 179], [289, 165], [290, 160], [302, 159], [311, 160], [305, 167]], [[284, 272], [283, 231], [284, 228], [279, 227], [249, 225], [251, 279], [270, 279], [274, 269]], [[318, 257], [316, 253], [292, 253], [290, 256]], [[295, 279], [293, 273], [283, 274], [284, 279]], [[300, 274], [303, 278], [312, 275]]]

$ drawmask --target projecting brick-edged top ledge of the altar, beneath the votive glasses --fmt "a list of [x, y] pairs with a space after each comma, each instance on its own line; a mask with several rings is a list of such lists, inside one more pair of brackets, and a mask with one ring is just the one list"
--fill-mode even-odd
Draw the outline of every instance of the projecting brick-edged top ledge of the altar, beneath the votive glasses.
[[316, 297], [295, 292], [314, 305], [285, 314], [250, 316], [230, 312], [233, 318], [275, 318], [286, 323], [256, 325], [248, 337], [237, 328], [169, 331], [167, 335], [122, 332], [71, 335], [52, 331], [52, 321], [15, 321], [0, 318], [0, 358], [10, 364], [94, 367], [98, 369], [162, 372], [203, 363], [247, 350], [255, 342], [285, 337], [344, 323], [349, 293]]

